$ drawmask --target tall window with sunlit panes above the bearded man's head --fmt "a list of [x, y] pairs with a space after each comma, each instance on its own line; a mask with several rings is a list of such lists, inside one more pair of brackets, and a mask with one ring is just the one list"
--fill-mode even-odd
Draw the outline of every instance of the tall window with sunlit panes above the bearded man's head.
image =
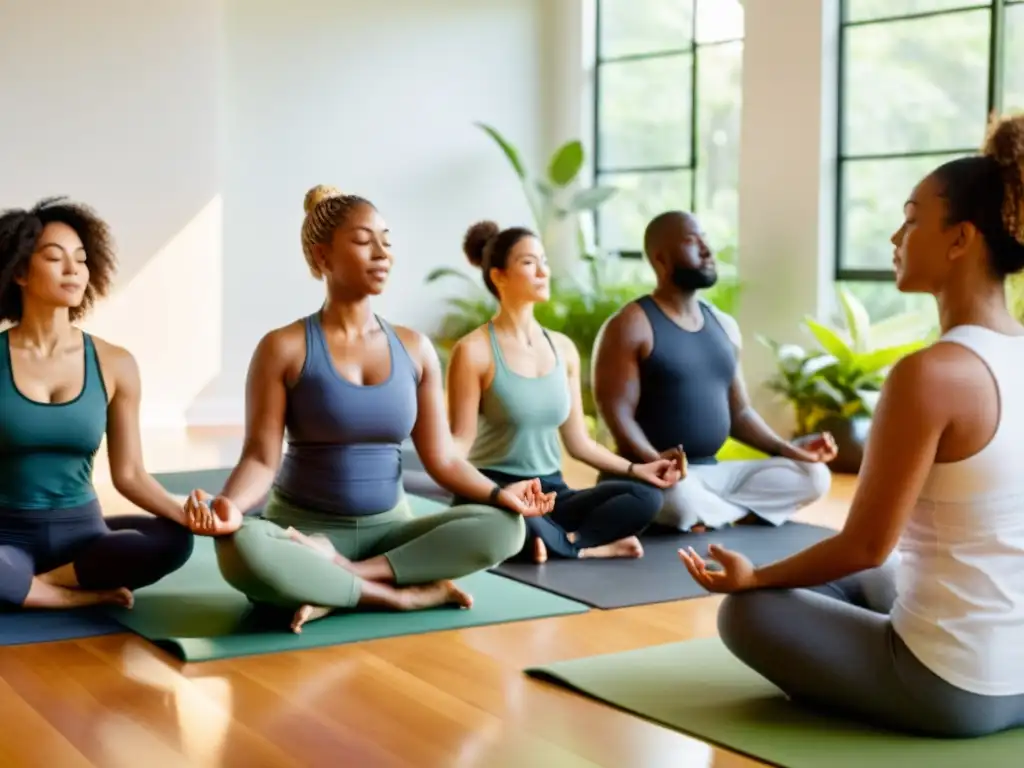
[[618, 188], [596, 216], [603, 250], [639, 255], [672, 209], [735, 245], [742, 37], [740, 0], [598, 0], [595, 174]]

